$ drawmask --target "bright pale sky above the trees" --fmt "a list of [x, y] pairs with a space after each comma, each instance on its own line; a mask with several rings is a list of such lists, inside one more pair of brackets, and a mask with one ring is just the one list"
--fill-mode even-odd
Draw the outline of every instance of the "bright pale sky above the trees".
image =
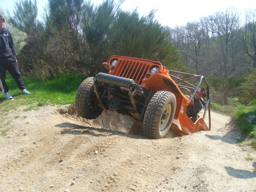
[[[11, 13], [17, 0], [0, 0], [1, 9], [8, 9]], [[18, 0], [19, 1], [19, 0]], [[33, 0], [32, 0], [33, 1]], [[44, 7], [48, 0], [37, 0], [38, 17], [43, 16]], [[103, 0], [91, 0], [95, 5], [101, 4]], [[187, 22], [199, 20], [200, 17], [207, 17], [217, 11], [234, 7], [242, 13], [246, 9], [256, 9], [255, 0], [126, 0], [121, 8], [125, 11], [132, 12], [138, 8], [140, 16], [148, 15], [153, 9], [157, 9], [155, 20], [162, 25], [175, 27], [176, 25], [185, 25]]]

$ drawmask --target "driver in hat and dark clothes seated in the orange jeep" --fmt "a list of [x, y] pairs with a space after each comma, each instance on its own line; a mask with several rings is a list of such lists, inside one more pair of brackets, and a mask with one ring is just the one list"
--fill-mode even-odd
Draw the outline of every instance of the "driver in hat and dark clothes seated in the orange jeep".
[[[206, 97], [206, 92], [204, 87], [199, 87], [197, 90], [194, 98], [191, 100], [191, 103], [188, 105], [186, 113], [187, 116], [193, 117], [194, 122], [196, 121], [197, 114], [201, 111], [203, 108], [203, 104], [201, 103], [200, 99]], [[190, 99], [191, 96], [188, 97]]]

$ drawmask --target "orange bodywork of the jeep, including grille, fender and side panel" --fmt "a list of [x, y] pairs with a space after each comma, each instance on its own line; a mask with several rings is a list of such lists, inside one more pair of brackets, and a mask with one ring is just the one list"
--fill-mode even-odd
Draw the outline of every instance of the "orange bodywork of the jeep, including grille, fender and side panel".
[[[115, 66], [111, 66], [110, 62], [116, 58], [118, 63]], [[151, 74], [150, 69], [154, 66], [157, 66], [159, 71]], [[108, 62], [102, 63], [102, 68], [106, 71], [108, 67], [108, 74], [133, 79], [134, 82], [138, 82], [140, 87], [144, 87], [147, 90], [152, 88], [154, 91], [151, 97], [159, 90], [172, 92], [176, 97], [176, 111], [171, 126], [173, 132], [183, 136], [201, 130], [210, 131], [204, 118], [199, 118], [193, 123], [186, 115], [186, 108], [190, 101], [168, 74], [168, 69], [163, 67], [161, 63], [123, 56], [111, 56]]]

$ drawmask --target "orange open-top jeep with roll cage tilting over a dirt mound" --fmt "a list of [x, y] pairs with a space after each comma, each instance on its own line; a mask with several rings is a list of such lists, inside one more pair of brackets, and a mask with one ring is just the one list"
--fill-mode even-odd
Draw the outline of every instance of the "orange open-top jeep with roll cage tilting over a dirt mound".
[[[156, 61], [123, 56], [111, 56], [101, 66], [107, 73], [89, 77], [78, 87], [75, 108], [79, 116], [95, 119], [103, 110], [116, 111], [134, 122], [129, 133], [143, 133], [152, 139], [164, 138], [170, 128], [181, 136], [210, 131], [210, 94], [204, 76], [168, 70]], [[197, 86], [189, 83], [195, 79]], [[207, 101], [200, 100], [204, 114], [193, 122], [186, 115], [186, 108], [203, 81], [207, 91]], [[190, 100], [183, 90], [192, 95]], [[207, 109], [209, 127], [205, 123]]]

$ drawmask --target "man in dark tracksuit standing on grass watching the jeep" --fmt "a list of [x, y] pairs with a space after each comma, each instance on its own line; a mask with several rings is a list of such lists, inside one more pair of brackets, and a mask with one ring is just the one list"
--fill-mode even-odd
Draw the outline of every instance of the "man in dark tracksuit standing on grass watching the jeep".
[[0, 89], [5, 99], [12, 99], [9, 87], [5, 82], [6, 70], [12, 75], [23, 94], [30, 94], [30, 92], [25, 89], [23, 79], [20, 76], [12, 35], [9, 30], [4, 28], [4, 22], [5, 19], [0, 15]]

